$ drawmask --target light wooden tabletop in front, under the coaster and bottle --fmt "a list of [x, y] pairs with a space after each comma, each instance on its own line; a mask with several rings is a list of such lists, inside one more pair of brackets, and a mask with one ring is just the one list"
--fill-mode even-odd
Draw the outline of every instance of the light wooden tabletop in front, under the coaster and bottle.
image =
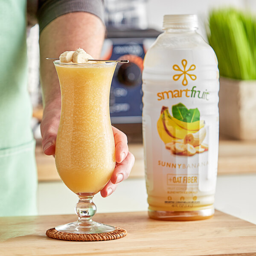
[[223, 212], [203, 221], [156, 221], [146, 212], [96, 214], [94, 220], [125, 228], [112, 241], [50, 239], [47, 229], [75, 221], [75, 215], [0, 218], [2, 256], [255, 256], [256, 225]]

